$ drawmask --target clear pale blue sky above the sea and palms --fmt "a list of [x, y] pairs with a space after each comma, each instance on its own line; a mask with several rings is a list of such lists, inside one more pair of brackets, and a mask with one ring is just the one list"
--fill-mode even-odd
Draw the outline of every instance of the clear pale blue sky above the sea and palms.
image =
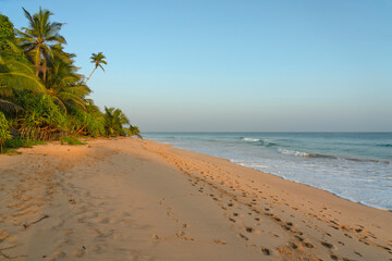
[[392, 132], [392, 0], [0, 0], [66, 23], [88, 85], [142, 132]]

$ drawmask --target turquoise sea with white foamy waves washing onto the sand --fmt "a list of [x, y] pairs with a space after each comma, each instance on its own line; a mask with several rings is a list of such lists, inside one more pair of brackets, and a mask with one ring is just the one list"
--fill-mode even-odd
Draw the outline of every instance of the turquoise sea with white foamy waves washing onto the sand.
[[392, 133], [145, 133], [144, 137], [392, 210]]

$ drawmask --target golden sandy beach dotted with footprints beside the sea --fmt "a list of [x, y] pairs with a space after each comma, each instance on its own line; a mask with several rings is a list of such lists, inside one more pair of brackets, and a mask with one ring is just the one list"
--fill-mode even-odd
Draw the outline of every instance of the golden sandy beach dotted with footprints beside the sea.
[[392, 260], [392, 213], [136, 138], [0, 156], [0, 260]]

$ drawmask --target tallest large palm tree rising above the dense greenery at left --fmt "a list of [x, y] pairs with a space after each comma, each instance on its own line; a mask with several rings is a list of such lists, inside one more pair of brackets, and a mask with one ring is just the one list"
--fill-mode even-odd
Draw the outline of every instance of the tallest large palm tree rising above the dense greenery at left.
[[66, 44], [64, 37], [59, 34], [64, 24], [50, 22], [49, 18], [53, 13], [41, 8], [33, 16], [24, 8], [23, 11], [28, 20], [29, 28], [23, 27], [23, 32], [17, 30], [21, 47], [35, 64], [36, 76], [38, 76], [39, 72], [42, 72], [45, 80], [47, 59], [53, 57], [52, 45]]

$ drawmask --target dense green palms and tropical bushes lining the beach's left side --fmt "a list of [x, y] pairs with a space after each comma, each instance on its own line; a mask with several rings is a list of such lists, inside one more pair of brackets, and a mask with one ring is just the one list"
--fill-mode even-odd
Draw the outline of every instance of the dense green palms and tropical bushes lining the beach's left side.
[[105, 54], [91, 54], [95, 67], [86, 78], [75, 65], [76, 54], [64, 51], [64, 24], [52, 22], [53, 13], [41, 8], [23, 13], [28, 26], [21, 29], [0, 14], [1, 151], [8, 144], [78, 144], [74, 137], [81, 136], [140, 137], [120, 109], [105, 107], [102, 112], [88, 98], [87, 82], [98, 67], [105, 71]]

